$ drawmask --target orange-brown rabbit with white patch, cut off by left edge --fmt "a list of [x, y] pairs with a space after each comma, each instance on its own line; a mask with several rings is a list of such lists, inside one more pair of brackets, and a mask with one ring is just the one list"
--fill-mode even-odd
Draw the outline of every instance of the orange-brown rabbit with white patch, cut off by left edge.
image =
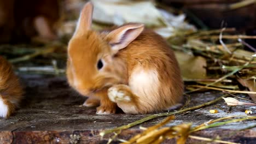
[[8, 118], [22, 98], [22, 88], [11, 65], [0, 56], [0, 118]]

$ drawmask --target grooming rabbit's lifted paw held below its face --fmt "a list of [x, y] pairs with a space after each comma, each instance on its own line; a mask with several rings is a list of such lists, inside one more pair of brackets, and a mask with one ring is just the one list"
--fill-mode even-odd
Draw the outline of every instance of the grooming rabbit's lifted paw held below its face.
[[131, 93], [127, 91], [126, 85], [117, 85], [108, 89], [108, 98], [114, 103], [118, 101], [130, 102]]

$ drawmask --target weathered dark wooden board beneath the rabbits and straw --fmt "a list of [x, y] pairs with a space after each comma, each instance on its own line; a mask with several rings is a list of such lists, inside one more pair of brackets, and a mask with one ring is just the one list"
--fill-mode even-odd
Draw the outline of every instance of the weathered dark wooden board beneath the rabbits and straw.
[[[101, 130], [118, 127], [148, 116], [124, 113], [108, 116], [95, 115], [95, 108], [80, 106], [85, 98], [80, 97], [68, 87], [65, 77], [39, 75], [21, 75], [21, 77], [26, 89], [26, 98], [12, 117], [0, 119], [0, 143], [107, 143], [109, 135], [101, 139], [98, 135]], [[205, 103], [220, 95], [218, 92], [192, 94], [189, 106]], [[224, 111], [216, 106], [222, 107]], [[253, 109], [253, 107], [250, 108]], [[218, 109], [219, 113], [211, 114], [208, 112], [210, 109]], [[175, 121], [168, 125], [188, 122], [197, 125], [213, 118], [245, 115], [245, 107], [242, 106], [232, 109], [231, 113], [226, 113], [228, 110], [229, 107], [223, 101], [219, 101], [215, 105], [177, 115]], [[148, 127], [164, 118], [156, 118], [142, 126]], [[222, 140], [256, 143], [256, 128], [238, 131], [255, 124], [256, 121], [244, 121], [199, 131], [193, 135], [211, 138], [220, 136]], [[125, 130], [119, 138], [127, 140], [139, 131], [141, 130], [138, 126]], [[170, 140], [165, 143], [172, 142], [174, 141]], [[198, 142], [188, 141], [188, 143]]]

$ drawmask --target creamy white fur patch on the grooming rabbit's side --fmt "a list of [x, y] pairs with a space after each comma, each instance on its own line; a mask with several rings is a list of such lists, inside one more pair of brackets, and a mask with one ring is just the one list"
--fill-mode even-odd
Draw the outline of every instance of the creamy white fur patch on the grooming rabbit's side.
[[158, 71], [144, 70], [142, 67], [137, 67], [132, 71], [129, 86], [143, 105], [158, 104], [159, 85]]

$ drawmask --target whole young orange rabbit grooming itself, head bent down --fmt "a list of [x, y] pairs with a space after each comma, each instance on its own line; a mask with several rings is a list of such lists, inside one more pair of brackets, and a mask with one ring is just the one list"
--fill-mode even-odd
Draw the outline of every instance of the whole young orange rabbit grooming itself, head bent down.
[[97, 114], [150, 113], [183, 100], [183, 81], [173, 51], [143, 24], [91, 30], [91, 2], [86, 3], [68, 44], [69, 85], [98, 106]]

